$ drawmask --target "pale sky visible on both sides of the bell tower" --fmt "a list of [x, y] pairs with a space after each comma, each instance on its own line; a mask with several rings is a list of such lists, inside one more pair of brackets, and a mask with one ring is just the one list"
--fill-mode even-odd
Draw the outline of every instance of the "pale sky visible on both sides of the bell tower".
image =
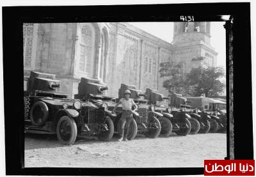
[[[173, 22], [129, 22], [158, 38], [171, 43], [173, 41]], [[217, 66], [226, 68], [225, 22], [211, 22], [211, 45], [218, 52]]]

